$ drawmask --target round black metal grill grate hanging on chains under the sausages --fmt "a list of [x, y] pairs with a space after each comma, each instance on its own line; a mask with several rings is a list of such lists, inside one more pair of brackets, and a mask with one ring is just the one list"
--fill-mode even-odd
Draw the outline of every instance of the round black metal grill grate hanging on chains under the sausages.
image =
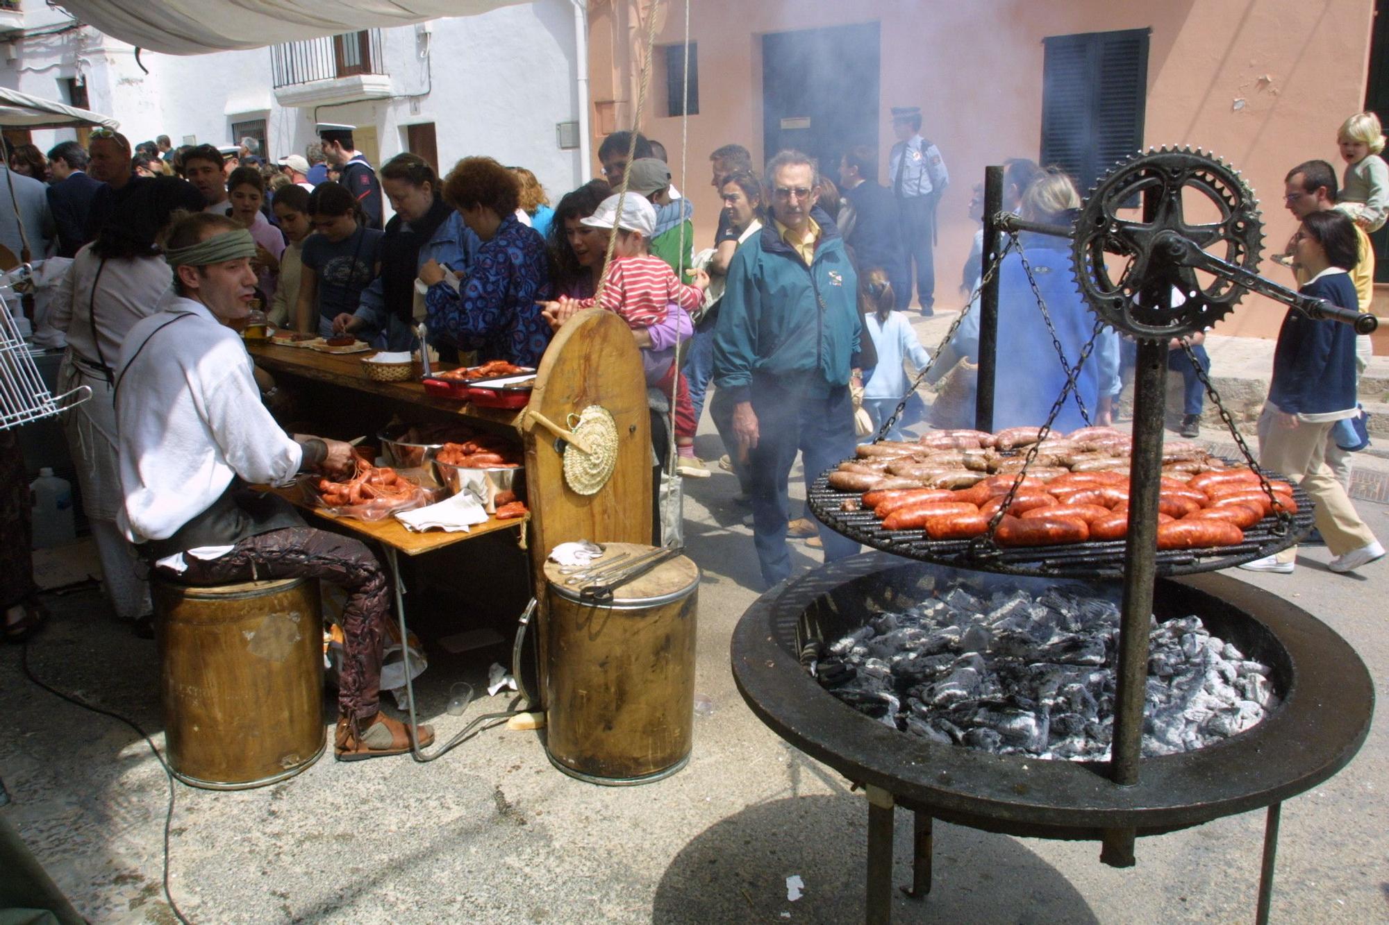
[[[1232, 462], [1232, 461], [1231, 461]], [[1233, 464], [1233, 462], [1232, 462]], [[833, 469], [831, 469], [833, 471]], [[1068, 546], [999, 549], [986, 557], [970, 553], [970, 540], [931, 540], [925, 531], [889, 531], [871, 510], [845, 511], [846, 500], [860, 499], [860, 492], [839, 492], [829, 488], [829, 472], [822, 472], [810, 488], [810, 510], [836, 533], [881, 549], [885, 553], [938, 562], [956, 568], [971, 568], [1001, 575], [1038, 575], [1057, 578], [1121, 578], [1124, 575], [1125, 540], [1085, 542]], [[1285, 476], [1268, 472], [1270, 479]], [[1313, 501], [1301, 486], [1293, 486], [1297, 512], [1286, 536], [1274, 532], [1278, 521], [1265, 517], [1245, 531], [1245, 542], [1238, 546], [1210, 549], [1156, 550], [1158, 575], [1195, 575], [1232, 568], [1288, 549], [1311, 532]]]

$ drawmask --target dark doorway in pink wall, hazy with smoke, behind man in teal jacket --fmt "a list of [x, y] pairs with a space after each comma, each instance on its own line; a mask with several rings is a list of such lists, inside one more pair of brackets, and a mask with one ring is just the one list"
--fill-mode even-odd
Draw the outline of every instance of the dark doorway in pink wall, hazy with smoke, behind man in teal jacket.
[[804, 151], [839, 182], [839, 156], [878, 146], [878, 24], [763, 36], [763, 144]]

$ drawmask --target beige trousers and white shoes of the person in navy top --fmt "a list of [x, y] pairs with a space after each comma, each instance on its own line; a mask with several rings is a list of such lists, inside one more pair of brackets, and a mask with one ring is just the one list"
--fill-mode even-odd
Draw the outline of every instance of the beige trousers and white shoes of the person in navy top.
[[[1331, 422], [1279, 426], [1274, 419], [1274, 406], [1264, 403], [1258, 415], [1258, 464], [1301, 483], [1317, 506], [1317, 529], [1326, 540], [1326, 549], [1332, 556], [1345, 556], [1375, 542], [1375, 535], [1356, 514], [1346, 489], [1326, 465], [1326, 433], [1331, 426]], [[1296, 557], [1297, 547], [1293, 546], [1279, 553], [1278, 561], [1290, 562]]]

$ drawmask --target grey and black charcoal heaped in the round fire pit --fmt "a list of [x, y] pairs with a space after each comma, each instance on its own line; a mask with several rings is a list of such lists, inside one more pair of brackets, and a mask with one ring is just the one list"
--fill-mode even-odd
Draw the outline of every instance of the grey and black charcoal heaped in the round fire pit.
[[[829, 646], [817, 676], [856, 710], [908, 735], [993, 754], [1096, 761], [1114, 732], [1120, 611], [1081, 585], [1040, 594], [922, 586]], [[890, 600], [900, 607], [900, 596]], [[1278, 704], [1263, 662], [1200, 618], [1150, 622], [1145, 756], [1245, 732]]]

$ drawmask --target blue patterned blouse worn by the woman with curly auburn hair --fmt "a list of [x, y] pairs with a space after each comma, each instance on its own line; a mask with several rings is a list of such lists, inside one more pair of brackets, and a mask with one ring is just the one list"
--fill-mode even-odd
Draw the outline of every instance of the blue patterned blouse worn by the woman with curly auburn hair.
[[429, 331], [453, 340], [460, 350], [476, 350], [482, 362], [506, 360], [533, 367], [551, 333], [535, 303], [549, 297], [544, 239], [515, 215], [507, 215], [492, 240], [478, 249], [460, 292], [429, 288]]

